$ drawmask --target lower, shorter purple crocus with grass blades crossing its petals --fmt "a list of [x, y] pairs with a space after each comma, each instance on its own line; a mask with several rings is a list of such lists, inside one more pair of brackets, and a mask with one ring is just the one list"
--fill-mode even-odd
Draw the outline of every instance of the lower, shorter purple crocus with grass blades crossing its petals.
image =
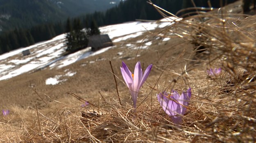
[[181, 96], [174, 90], [172, 90], [171, 94], [168, 94], [166, 91], [157, 94], [157, 99], [163, 110], [172, 118], [173, 123], [176, 124], [181, 124], [182, 118], [179, 114], [184, 115], [190, 97], [191, 88], [188, 88], [186, 92], [182, 92]]

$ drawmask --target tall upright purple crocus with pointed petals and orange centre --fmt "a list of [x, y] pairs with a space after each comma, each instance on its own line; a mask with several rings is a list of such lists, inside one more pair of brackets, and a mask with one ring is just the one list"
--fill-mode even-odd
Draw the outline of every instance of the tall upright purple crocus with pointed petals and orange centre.
[[122, 77], [125, 80], [125, 84], [128, 86], [130, 92], [131, 92], [131, 99], [133, 101], [133, 107], [136, 108], [136, 101], [138, 97], [138, 92], [147, 79], [147, 76], [150, 74], [152, 68], [152, 64], [150, 64], [143, 75], [143, 71], [140, 68], [140, 62], [137, 62], [134, 68], [134, 74], [131, 73], [129, 68], [126, 66], [125, 62], [122, 62], [121, 73]]

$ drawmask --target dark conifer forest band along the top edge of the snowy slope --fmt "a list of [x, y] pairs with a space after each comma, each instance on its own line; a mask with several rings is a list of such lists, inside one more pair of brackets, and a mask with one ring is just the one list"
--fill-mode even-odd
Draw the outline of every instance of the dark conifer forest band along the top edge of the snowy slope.
[[[161, 19], [161, 14], [159, 14], [152, 5], [148, 4], [147, 1], [148, 0], [121, 1], [118, 6], [108, 9], [105, 12], [95, 12], [70, 20], [79, 19], [81, 20], [82, 28], [88, 28], [93, 21], [97, 22], [98, 26], [104, 26], [134, 21], [136, 19]], [[208, 0], [194, 0], [198, 7], [208, 7], [207, 1]], [[211, 5], [216, 8], [234, 1], [236, 0], [210, 0]], [[193, 7], [190, 0], [152, 0], [152, 2], [174, 14], [180, 9]], [[19, 47], [29, 46], [36, 42], [50, 40], [52, 37], [66, 32], [68, 32], [66, 31], [66, 22], [42, 24], [30, 29], [15, 29], [14, 31], [9, 31], [0, 36], [0, 54]]]

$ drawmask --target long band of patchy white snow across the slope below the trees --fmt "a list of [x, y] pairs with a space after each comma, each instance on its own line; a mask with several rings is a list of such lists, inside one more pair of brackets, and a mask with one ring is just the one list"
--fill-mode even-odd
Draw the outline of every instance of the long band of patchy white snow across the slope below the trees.
[[[137, 37], [147, 30], [172, 24], [174, 18], [161, 20], [162, 22], [127, 22], [123, 24], [100, 27], [101, 34], [108, 34], [113, 42], [122, 42], [131, 37]], [[165, 22], [163, 22], [165, 21]], [[148, 46], [147, 44], [145, 46]], [[107, 51], [103, 48], [92, 52], [90, 47], [76, 53], [62, 56], [65, 52], [65, 34], [54, 37], [52, 40], [40, 42], [29, 47], [20, 48], [0, 55], [0, 80], [9, 79], [22, 73], [50, 68], [62, 68], [89, 56]], [[29, 49], [30, 55], [23, 56], [22, 51]]]

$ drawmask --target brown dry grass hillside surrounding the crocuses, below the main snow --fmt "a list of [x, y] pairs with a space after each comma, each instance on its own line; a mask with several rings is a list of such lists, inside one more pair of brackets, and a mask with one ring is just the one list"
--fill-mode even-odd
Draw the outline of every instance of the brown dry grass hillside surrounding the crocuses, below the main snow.
[[[224, 10], [113, 37], [115, 46], [102, 53], [1, 80], [0, 107], [10, 114], [0, 117], [0, 141], [256, 142], [256, 17]], [[199, 52], [202, 47], [207, 50]], [[153, 64], [136, 112], [120, 73], [122, 61], [132, 72], [138, 61], [143, 71]], [[209, 75], [210, 68], [222, 71]], [[46, 84], [57, 75], [63, 82]], [[181, 125], [174, 124], [156, 94], [188, 88], [190, 104]], [[89, 106], [82, 108], [83, 100], [68, 92]]]

